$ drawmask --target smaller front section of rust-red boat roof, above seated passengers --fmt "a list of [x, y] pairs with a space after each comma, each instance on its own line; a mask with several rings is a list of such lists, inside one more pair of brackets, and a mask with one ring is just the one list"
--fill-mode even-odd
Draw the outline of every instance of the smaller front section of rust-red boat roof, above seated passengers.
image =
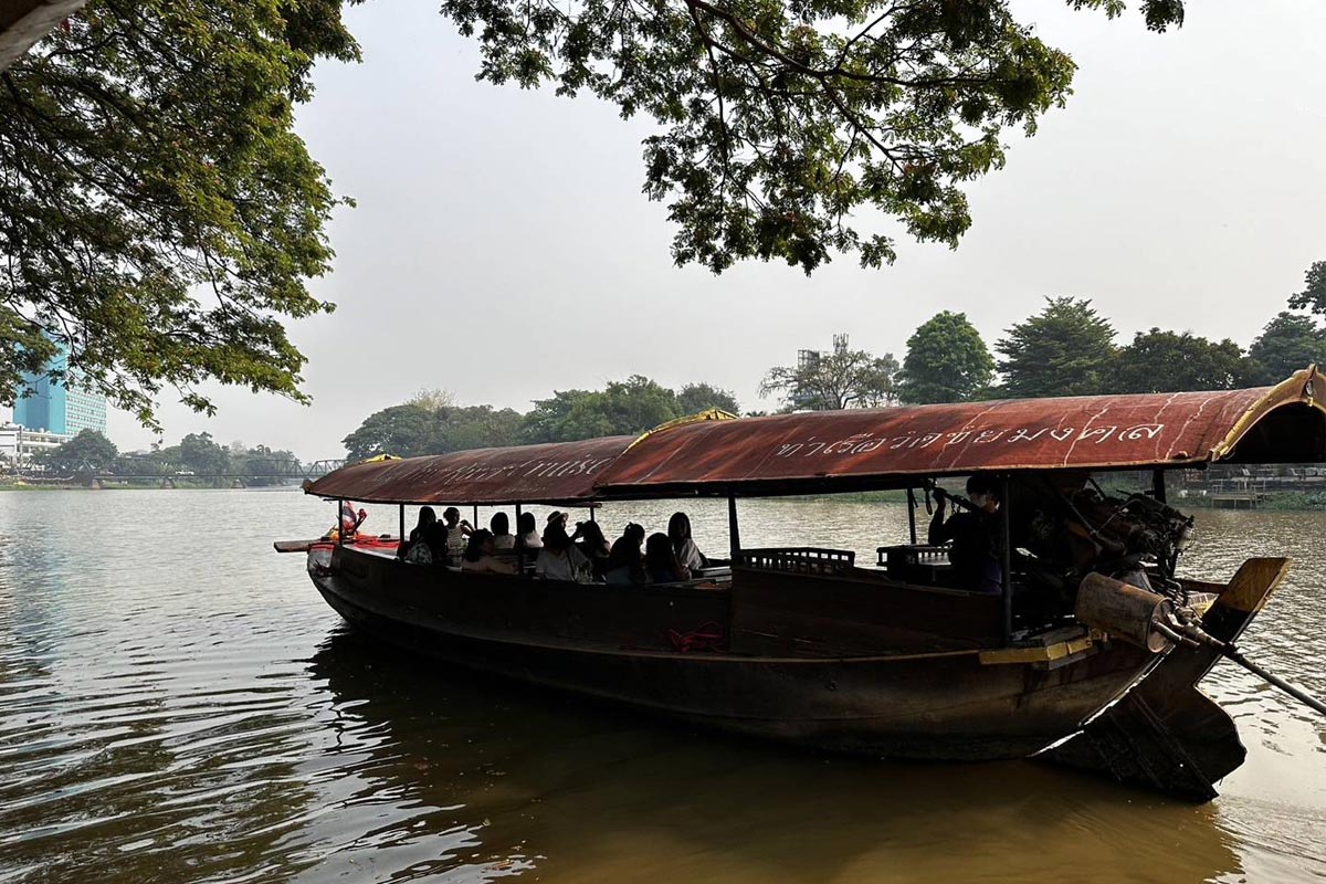
[[369, 504], [575, 504], [634, 436], [574, 443], [479, 448], [343, 467], [309, 494]]

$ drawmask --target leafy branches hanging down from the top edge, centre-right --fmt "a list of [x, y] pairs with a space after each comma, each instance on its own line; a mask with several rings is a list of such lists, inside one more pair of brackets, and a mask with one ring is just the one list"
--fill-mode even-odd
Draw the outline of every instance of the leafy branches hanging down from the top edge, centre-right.
[[[1181, 24], [1183, 5], [1140, 4], [1155, 30]], [[892, 261], [890, 236], [849, 224], [861, 207], [956, 245], [971, 225], [961, 186], [1004, 164], [1005, 130], [1032, 134], [1063, 105], [1074, 72], [1009, 0], [443, 0], [442, 12], [477, 34], [480, 80], [554, 82], [652, 117], [644, 192], [670, 200], [675, 261], [715, 273], [751, 257], [806, 273], [834, 252]]]

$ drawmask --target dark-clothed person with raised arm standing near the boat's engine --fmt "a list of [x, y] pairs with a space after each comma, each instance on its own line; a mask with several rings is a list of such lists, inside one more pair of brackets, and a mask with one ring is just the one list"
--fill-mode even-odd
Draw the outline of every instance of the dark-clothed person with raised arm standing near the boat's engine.
[[998, 486], [988, 476], [977, 473], [967, 480], [967, 500], [971, 509], [953, 513], [945, 521], [948, 494], [944, 489], [935, 488], [936, 505], [935, 516], [930, 520], [928, 542], [940, 546], [952, 541], [948, 561], [953, 563], [960, 587], [998, 595], [1004, 590]]

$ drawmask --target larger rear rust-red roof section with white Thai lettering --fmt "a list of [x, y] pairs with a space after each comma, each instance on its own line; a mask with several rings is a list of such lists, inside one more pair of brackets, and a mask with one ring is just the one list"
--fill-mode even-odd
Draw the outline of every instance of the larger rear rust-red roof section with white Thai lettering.
[[[975, 470], [1116, 469], [1228, 456], [1272, 411], [1326, 411], [1326, 378], [1277, 387], [747, 417], [654, 433], [601, 474], [606, 496], [809, 493]], [[899, 481], [898, 484], [906, 484]]]

